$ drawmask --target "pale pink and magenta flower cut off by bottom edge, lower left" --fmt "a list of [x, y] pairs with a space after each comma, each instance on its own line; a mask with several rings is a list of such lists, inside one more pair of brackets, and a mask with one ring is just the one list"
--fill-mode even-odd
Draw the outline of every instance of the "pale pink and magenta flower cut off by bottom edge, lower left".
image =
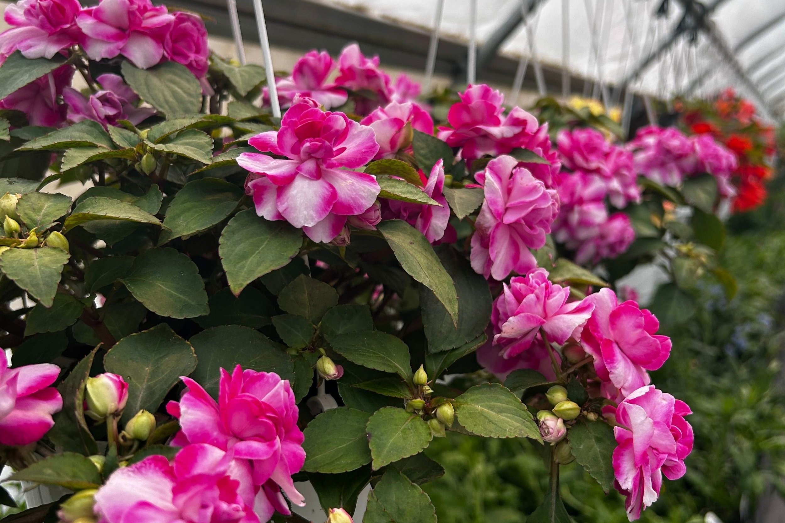
[[98, 523], [259, 523], [253, 485], [250, 466], [231, 451], [190, 444], [172, 463], [152, 455], [115, 471], [94, 510]]

